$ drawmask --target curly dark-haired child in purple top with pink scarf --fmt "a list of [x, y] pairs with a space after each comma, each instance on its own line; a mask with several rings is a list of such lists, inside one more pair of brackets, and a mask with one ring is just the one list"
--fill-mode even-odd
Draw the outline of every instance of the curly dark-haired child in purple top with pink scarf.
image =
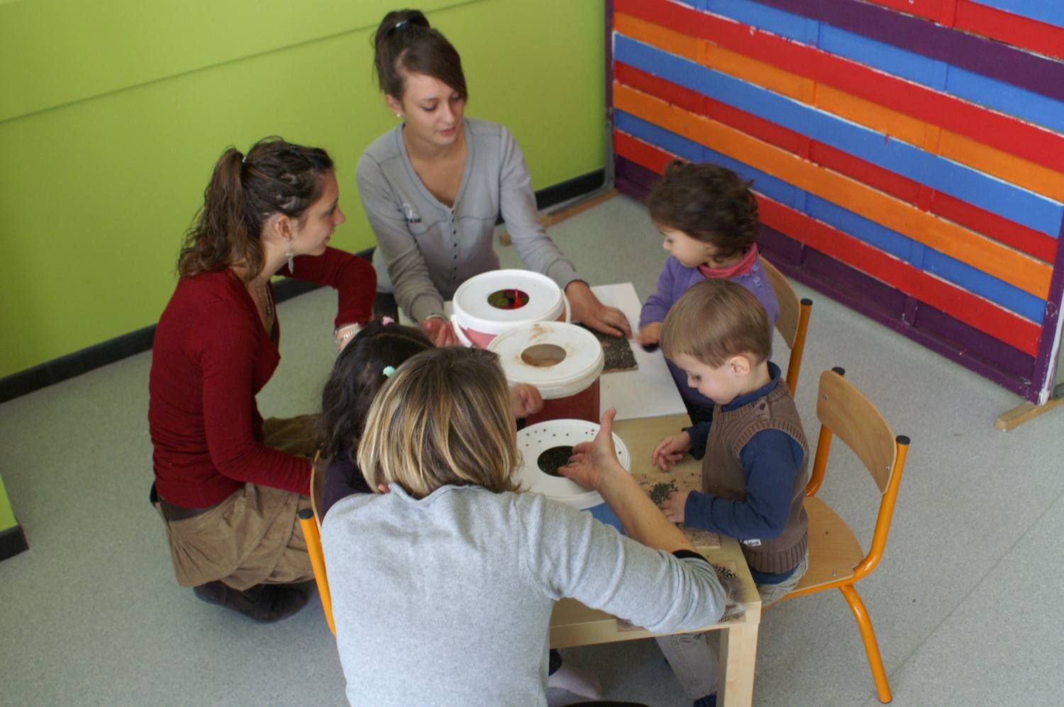
[[[761, 223], [750, 182], [719, 165], [675, 159], [650, 190], [647, 207], [670, 257], [658, 279], [658, 290], [639, 313], [639, 343], [658, 344], [669, 308], [688, 287], [706, 279], [731, 280], [753, 292], [768, 313], [771, 339], [780, 305], [754, 242]], [[709, 420], [713, 401], [688, 387], [683, 371], [671, 361], [669, 371], [692, 422]]]

